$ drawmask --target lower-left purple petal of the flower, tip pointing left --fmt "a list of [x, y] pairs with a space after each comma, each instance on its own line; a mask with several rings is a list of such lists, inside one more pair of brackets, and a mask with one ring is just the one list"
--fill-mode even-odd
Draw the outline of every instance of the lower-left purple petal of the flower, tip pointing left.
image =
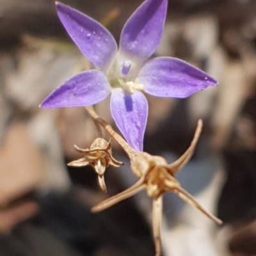
[[108, 79], [99, 70], [81, 72], [54, 90], [40, 105], [42, 108], [89, 106], [111, 92]]

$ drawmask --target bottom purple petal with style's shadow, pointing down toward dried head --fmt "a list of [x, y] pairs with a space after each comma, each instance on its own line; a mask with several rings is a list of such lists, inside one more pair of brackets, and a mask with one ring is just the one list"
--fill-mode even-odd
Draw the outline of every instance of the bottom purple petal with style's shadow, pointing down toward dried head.
[[116, 88], [111, 94], [111, 113], [118, 129], [132, 148], [143, 150], [143, 136], [147, 123], [148, 102], [143, 93], [133, 94]]

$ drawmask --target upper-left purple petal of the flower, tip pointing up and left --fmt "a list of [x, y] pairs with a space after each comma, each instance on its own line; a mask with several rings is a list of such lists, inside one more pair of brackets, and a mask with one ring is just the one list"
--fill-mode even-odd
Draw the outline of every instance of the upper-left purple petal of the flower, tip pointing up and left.
[[61, 3], [56, 3], [56, 8], [63, 26], [81, 52], [98, 67], [107, 67], [117, 52], [111, 33], [76, 9]]

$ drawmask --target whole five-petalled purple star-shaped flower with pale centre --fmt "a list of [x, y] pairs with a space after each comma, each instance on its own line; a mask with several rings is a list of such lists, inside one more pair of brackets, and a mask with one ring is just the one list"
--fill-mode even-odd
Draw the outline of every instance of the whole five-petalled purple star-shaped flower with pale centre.
[[[111, 93], [111, 113], [127, 142], [143, 149], [148, 103], [141, 91], [157, 97], [188, 97], [216, 81], [185, 61], [160, 57], [168, 0], [146, 0], [115, 39], [99, 22], [65, 4], [56, 3], [60, 20], [84, 56], [99, 69], [71, 77], [41, 104], [42, 108], [89, 106]], [[146, 62], [145, 62], [146, 61]]]

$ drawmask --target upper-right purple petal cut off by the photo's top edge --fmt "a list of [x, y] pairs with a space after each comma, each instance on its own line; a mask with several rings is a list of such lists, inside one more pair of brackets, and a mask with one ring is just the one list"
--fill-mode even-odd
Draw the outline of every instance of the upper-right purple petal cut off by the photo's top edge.
[[149, 58], [160, 42], [167, 0], [147, 0], [131, 15], [121, 33], [120, 51], [129, 56]]

